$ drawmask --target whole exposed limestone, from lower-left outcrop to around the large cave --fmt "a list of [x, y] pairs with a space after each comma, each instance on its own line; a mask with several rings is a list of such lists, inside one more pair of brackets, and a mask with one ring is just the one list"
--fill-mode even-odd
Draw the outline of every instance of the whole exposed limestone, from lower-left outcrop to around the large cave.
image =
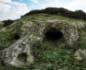
[[70, 24], [70, 22], [65, 20], [25, 22], [21, 26], [19, 40], [0, 51], [0, 62], [19, 67], [30, 65], [34, 62], [34, 56], [30, 49], [34, 43], [43, 43], [45, 40], [57, 43], [62, 39], [65, 45], [71, 46], [79, 39], [78, 30], [82, 28], [80, 26], [78, 24]]

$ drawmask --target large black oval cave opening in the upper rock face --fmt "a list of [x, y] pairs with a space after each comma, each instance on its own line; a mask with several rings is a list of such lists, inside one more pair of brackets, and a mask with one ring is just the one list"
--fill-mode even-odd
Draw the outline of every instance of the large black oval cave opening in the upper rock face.
[[60, 40], [63, 37], [63, 33], [57, 29], [57, 28], [49, 28], [46, 32], [45, 32], [45, 39], [46, 40], [50, 40], [50, 41], [57, 41]]

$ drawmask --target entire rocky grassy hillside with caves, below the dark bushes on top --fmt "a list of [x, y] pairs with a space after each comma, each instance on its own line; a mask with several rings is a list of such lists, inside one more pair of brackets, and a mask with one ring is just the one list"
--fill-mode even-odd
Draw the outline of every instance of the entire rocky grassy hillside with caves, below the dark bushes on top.
[[0, 70], [86, 70], [86, 14], [56, 13], [0, 22]]

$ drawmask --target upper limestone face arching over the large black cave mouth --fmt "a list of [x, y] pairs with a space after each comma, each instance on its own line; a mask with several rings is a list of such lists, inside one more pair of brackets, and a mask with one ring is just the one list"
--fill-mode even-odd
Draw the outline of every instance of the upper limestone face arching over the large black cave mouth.
[[[79, 38], [78, 28], [76, 25], [70, 24], [64, 20], [48, 20], [48, 21], [35, 21], [28, 22], [23, 25], [24, 30], [35, 37], [40, 37], [40, 39], [44, 39], [46, 33], [49, 37], [57, 37], [55, 39], [58, 40], [59, 32], [62, 33], [65, 43], [68, 45], [73, 45]], [[59, 32], [58, 32], [59, 31]], [[57, 34], [57, 35], [56, 35]], [[51, 35], [51, 36], [50, 36]]]

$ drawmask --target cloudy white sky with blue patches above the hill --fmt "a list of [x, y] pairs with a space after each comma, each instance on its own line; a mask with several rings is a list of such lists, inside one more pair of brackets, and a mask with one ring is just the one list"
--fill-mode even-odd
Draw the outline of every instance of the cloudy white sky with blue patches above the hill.
[[86, 12], [86, 0], [0, 0], [0, 20], [18, 19], [34, 9], [64, 7]]

